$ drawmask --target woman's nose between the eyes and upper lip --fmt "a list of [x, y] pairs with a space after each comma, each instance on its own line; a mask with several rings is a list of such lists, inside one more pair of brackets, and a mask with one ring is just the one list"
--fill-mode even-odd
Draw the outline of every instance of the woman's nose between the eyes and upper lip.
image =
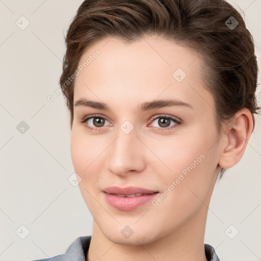
[[119, 128], [108, 150], [108, 170], [118, 176], [141, 172], [145, 168], [145, 147], [135, 129], [126, 134]]

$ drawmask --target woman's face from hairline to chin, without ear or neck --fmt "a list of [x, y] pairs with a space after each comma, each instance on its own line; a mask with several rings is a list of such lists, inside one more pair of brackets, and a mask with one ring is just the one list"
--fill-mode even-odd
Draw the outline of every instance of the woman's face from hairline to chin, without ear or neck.
[[[96, 227], [111, 241], [137, 245], [195, 225], [206, 215], [219, 161], [214, 99], [198, 55], [156, 36], [128, 44], [108, 38], [88, 48], [79, 68], [71, 156]], [[158, 193], [107, 197], [111, 186]]]

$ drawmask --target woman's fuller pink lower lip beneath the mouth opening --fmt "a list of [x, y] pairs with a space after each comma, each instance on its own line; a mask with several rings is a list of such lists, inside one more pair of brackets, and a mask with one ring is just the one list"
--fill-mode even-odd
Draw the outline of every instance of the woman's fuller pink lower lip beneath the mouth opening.
[[142, 195], [138, 197], [132, 197], [132, 198], [118, 197], [114, 194], [108, 194], [106, 192], [104, 192], [104, 194], [105, 194], [105, 199], [109, 205], [117, 208], [118, 210], [130, 211], [130, 210], [135, 210], [135, 208], [152, 200], [156, 195], [159, 194], [159, 192]]

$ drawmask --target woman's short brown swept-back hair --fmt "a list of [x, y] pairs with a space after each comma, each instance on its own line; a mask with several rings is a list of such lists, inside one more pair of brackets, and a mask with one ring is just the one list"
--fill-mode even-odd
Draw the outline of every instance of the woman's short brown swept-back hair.
[[[230, 19], [230, 20], [229, 20]], [[232, 28], [229, 24], [236, 25]], [[238, 24], [237, 24], [238, 23]], [[85, 0], [65, 37], [66, 54], [60, 86], [73, 122], [74, 73], [85, 50], [116, 37], [134, 42], [145, 35], [163, 36], [192, 48], [205, 63], [203, 79], [222, 123], [242, 108], [257, 114], [257, 61], [252, 35], [240, 13], [224, 0]], [[221, 168], [221, 177], [225, 169]], [[221, 178], [220, 177], [220, 178]]]

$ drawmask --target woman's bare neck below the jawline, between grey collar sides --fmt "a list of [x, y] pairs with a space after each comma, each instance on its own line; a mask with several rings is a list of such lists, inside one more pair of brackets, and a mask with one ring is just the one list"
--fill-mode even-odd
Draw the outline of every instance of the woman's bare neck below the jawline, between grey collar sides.
[[[198, 212], [177, 229], [146, 244], [120, 245], [109, 240], [93, 221], [93, 232], [87, 261], [147, 261], [147, 260], [198, 260], [207, 261], [204, 251], [204, 233], [207, 207], [202, 204]], [[204, 217], [204, 218], [203, 218]], [[134, 234], [133, 234], [134, 236]]]

